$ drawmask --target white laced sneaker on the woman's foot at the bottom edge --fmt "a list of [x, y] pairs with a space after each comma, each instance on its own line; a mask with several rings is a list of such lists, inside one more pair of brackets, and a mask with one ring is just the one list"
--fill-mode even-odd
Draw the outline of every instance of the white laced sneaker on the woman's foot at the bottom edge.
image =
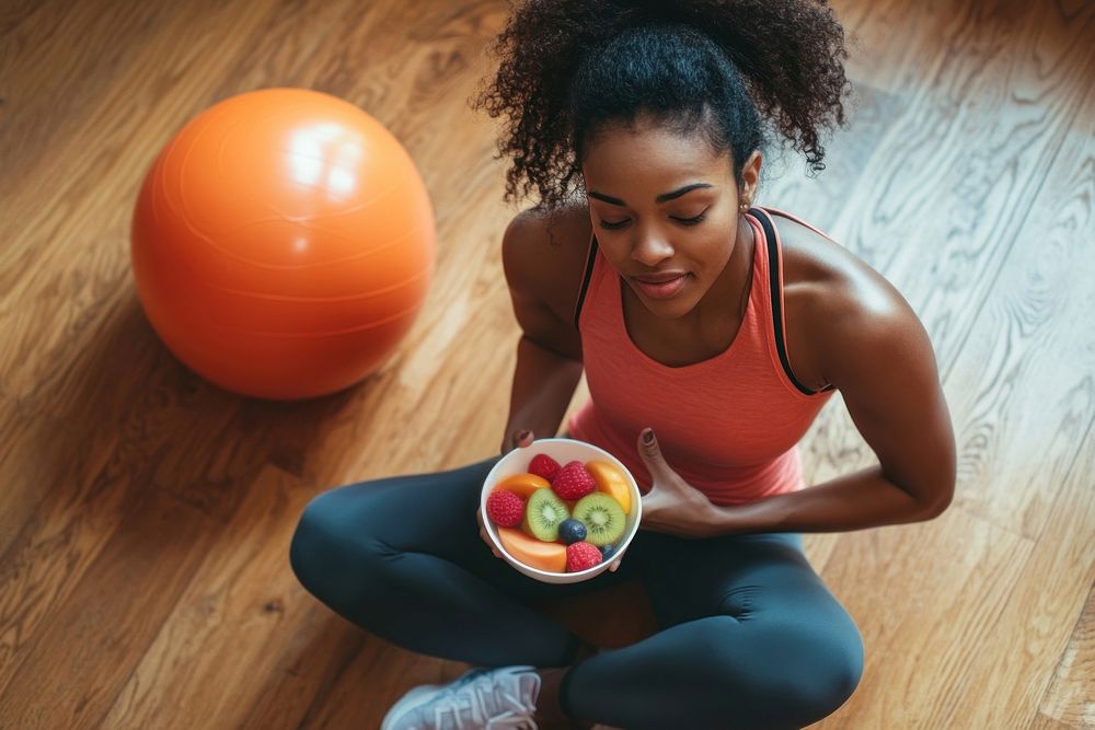
[[424, 684], [392, 705], [380, 730], [537, 730], [535, 667], [471, 669], [450, 684]]

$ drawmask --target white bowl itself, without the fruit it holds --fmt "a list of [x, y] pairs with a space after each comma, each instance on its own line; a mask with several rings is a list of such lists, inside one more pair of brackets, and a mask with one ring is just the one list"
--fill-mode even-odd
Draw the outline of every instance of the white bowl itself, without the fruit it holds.
[[[586, 568], [585, 570], [579, 570], [577, 572], [552, 572], [525, 565], [507, 553], [506, 548], [503, 547], [502, 541], [498, 538], [498, 531], [491, 521], [491, 518], [487, 517], [486, 499], [491, 496], [491, 491], [494, 489], [494, 486], [502, 479], [515, 474], [527, 473], [529, 462], [537, 454], [548, 454], [561, 465], [565, 465], [567, 462], [572, 461], [580, 461], [585, 464], [593, 459], [601, 459], [614, 464], [627, 477], [627, 484], [631, 486], [631, 511], [627, 513], [623, 537], [620, 538], [616, 549], [607, 560], [601, 560], [593, 567]], [[616, 559], [623, 556], [627, 546], [631, 545], [631, 541], [635, 536], [635, 533], [638, 532], [638, 525], [643, 519], [643, 495], [638, 490], [635, 477], [631, 475], [627, 467], [620, 463], [619, 459], [603, 449], [595, 447], [591, 443], [586, 443], [585, 441], [577, 441], [575, 439], [539, 439], [533, 441], [528, 447], [518, 447], [517, 449], [514, 449], [498, 460], [498, 463], [494, 465], [494, 468], [491, 470], [491, 473], [486, 475], [486, 479], [483, 482], [483, 491], [480, 496], [480, 513], [483, 517], [483, 524], [486, 526], [486, 533], [491, 535], [491, 542], [494, 543], [494, 546], [502, 554], [502, 557], [506, 560], [506, 563], [514, 566], [529, 578], [535, 578], [537, 580], [545, 583], [577, 583], [601, 575], [608, 570], [609, 566], [611, 566]]]

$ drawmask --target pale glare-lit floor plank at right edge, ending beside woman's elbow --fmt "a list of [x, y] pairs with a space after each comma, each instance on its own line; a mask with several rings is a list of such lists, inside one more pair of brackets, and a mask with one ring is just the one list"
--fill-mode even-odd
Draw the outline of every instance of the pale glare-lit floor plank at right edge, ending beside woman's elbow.
[[[1085, 109], [1095, 115], [1095, 95]], [[1095, 153], [1082, 128], [1056, 167], [1027, 205], [1018, 239], [1028, 243], [984, 293], [947, 378], [959, 431], [956, 503], [1036, 538], [1054, 524], [1053, 501], [1095, 419], [1095, 332], [1076, 326], [1095, 309]]]

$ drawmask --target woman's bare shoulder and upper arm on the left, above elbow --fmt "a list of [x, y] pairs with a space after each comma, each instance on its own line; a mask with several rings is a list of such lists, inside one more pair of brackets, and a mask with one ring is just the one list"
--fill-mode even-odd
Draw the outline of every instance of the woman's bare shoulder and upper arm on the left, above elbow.
[[503, 239], [503, 267], [518, 322], [528, 336], [575, 359], [581, 346], [572, 318], [591, 234], [589, 208], [574, 204], [554, 217], [523, 210]]

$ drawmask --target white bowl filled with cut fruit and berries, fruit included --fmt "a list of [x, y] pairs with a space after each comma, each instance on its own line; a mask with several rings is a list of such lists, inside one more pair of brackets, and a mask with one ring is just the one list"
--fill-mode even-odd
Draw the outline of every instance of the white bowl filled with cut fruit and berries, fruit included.
[[480, 510], [507, 563], [546, 583], [576, 583], [623, 555], [643, 502], [635, 477], [609, 452], [575, 439], [540, 439], [494, 465]]

